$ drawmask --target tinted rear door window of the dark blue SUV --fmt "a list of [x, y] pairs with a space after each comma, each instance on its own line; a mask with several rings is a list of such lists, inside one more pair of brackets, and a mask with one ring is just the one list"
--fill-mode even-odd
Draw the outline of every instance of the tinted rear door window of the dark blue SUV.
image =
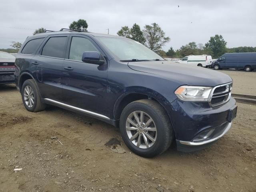
[[67, 37], [51, 37], [42, 50], [42, 55], [49, 57], [64, 58]]

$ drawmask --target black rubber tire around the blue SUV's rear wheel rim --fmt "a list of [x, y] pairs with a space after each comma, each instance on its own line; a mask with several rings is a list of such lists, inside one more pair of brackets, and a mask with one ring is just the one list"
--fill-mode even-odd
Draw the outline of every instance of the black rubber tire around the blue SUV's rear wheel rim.
[[[34, 104], [32, 106], [28, 106], [28, 104], [26, 104], [25, 102], [24, 89], [26, 86], [29, 86], [30, 88], [32, 88], [32, 91], [34, 94]], [[21, 96], [22, 96], [22, 102], [25, 108], [30, 112], [39, 112], [44, 110], [46, 107], [46, 105], [42, 102], [42, 98], [41, 98], [38, 86], [36, 85], [36, 82], [34, 82], [34, 80], [32, 79], [28, 79], [23, 83], [22, 89], [21, 89]]]

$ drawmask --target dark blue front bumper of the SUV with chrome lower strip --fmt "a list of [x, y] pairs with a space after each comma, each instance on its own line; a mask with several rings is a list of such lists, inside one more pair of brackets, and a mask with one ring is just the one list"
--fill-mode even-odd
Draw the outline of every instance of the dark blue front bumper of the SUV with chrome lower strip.
[[177, 150], [192, 152], [210, 146], [230, 130], [229, 114], [236, 101], [231, 97], [225, 104], [210, 107], [208, 103], [176, 100], [172, 107]]

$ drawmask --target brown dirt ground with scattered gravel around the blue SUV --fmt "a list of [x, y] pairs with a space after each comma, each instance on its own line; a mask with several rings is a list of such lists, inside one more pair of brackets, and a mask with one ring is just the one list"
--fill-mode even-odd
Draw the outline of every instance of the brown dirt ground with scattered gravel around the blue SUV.
[[[256, 76], [225, 73], [234, 91], [237, 76]], [[256, 192], [256, 105], [237, 105], [232, 129], [210, 148], [142, 158], [123, 143], [124, 154], [104, 145], [122, 142], [113, 126], [56, 107], [28, 112], [15, 86], [2, 85], [0, 192]], [[22, 170], [14, 172], [16, 166]]]

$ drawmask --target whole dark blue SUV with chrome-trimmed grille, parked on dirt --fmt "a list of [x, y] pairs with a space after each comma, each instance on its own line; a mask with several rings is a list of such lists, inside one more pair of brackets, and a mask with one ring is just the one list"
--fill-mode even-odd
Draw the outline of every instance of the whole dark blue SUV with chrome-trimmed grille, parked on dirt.
[[127, 38], [45, 32], [26, 39], [15, 65], [28, 111], [50, 104], [97, 118], [144, 157], [172, 142], [186, 152], [209, 146], [236, 116], [228, 75], [166, 61]]

